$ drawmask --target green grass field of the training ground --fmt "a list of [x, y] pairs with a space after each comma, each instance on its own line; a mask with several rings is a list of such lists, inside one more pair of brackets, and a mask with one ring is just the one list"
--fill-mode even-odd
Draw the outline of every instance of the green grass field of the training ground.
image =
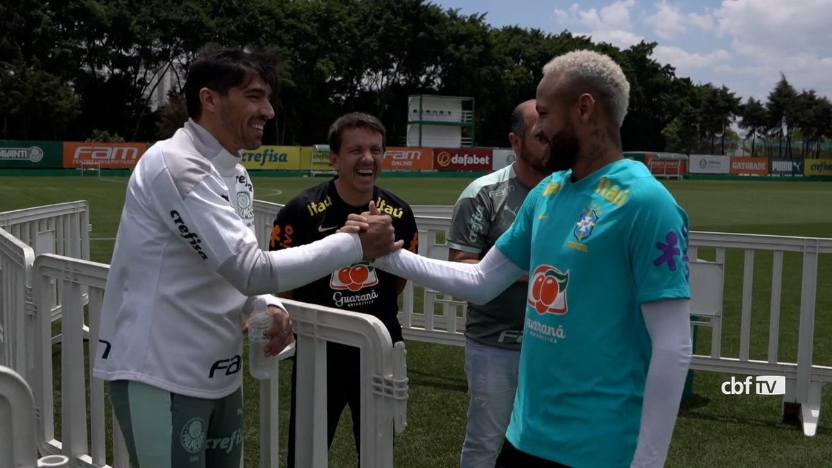
[[[287, 202], [323, 178], [254, 177], [256, 198]], [[451, 205], [470, 179], [416, 178], [384, 175], [379, 185], [414, 205]], [[694, 231], [746, 232], [784, 236], [832, 237], [832, 183], [672, 181], [667, 187], [685, 207]], [[92, 259], [109, 262], [126, 177], [0, 177], [0, 212], [57, 202], [87, 200], [93, 226]], [[712, 252], [701, 251], [709, 257]], [[800, 262], [786, 255], [780, 318], [780, 360], [794, 361]], [[742, 285], [742, 252], [726, 257], [726, 301], [722, 355], [737, 356]], [[771, 256], [755, 256], [751, 357], [765, 359], [768, 341]], [[815, 364], [832, 366], [832, 259], [821, 258], [816, 301]], [[702, 331], [699, 350], [709, 349]], [[467, 409], [463, 350], [409, 341], [408, 427], [397, 437], [395, 466], [457, 466]], [[57, 348], [56, 348], [57, 350]], [[57, 354], [56, 354], [57, 356]], [[290, 364], [281, 364], [281, 439], [289, 407]], [[59, 376], [59, 374], [58, 374]], [[780, 421], [780, 397], [725, 396], [722, 381], [730, 376], [696, 372], [694, 396], [686, 400], [676, 423], [667, 466], [830, 466], [832, 401], [824, 392], [820, 426], [814, 438]], [[740, 376], [737, 376], [738, 378]], [[257, 466], [257, 386], [245, 380], [245, 466]], [[58, 401], [56, 401], [56, 404]], [[282, 452], [281, 447], [281, 452]], [[330, 466], [354, 466], [355, 455], [345, 413], [339, 425]]]

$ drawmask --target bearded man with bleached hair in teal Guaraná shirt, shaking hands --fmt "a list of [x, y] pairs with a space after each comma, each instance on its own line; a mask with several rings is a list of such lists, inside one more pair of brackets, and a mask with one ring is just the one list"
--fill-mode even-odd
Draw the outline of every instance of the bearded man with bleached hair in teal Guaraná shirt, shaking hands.
[[688, 222], [646, 167], [622, 156], [629, 90], [610, 57], [552, 59], [534, 132], [556, 172], [494, 248], [476, 265], [409, 251], [375, 262], [478, 304], [528, 271], [518, 391], [498, 468], [666, 461], [691, 360]]

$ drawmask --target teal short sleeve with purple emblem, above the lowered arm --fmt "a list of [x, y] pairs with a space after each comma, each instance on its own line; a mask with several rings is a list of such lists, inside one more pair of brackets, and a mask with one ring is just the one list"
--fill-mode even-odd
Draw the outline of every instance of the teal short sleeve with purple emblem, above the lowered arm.
[[636, 301], [690, 298], [687, 214], [661, 183], [642, 187], [631, 197], [636, 211], [628, 245]]

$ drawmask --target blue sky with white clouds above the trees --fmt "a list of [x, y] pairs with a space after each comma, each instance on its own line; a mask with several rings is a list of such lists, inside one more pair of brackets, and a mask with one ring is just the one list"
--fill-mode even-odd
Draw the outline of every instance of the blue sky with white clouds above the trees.
[[656, 42], [677, 77], [765, 102], [780, 72], [832, 99], [832, 0], [432, 0], [494, 27], [563, 30], [619, 48]]

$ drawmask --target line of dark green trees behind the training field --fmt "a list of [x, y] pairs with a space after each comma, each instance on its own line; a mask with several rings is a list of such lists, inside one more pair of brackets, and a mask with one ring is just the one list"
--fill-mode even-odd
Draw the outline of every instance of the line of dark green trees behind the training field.
[[[508, 115], [533, 98], [542, 66], [576, 49], [604, 52], [631, 82], [625, 150], [819, 157], [832, 104], [787, 78], [765, 102], [677, 77], [656, 42], [622, 49], [568, 31], [490, 26], [426, 0], [84, 0], [0, 3], [0, 138], [156, 141], [187, 117], [188, 64], [211, 46], [276, 50], [277, 117], [267, 144], [324, 142], [354, 110], [404, 143], [409, 95], [473, 97], [477, 146], [507, 145]], [[161, 79], [169, 102], [154, 109]], [[747, 137], [741, 142], [736, 124]], [[800, 145], [793, 149], [795, 142]]]

